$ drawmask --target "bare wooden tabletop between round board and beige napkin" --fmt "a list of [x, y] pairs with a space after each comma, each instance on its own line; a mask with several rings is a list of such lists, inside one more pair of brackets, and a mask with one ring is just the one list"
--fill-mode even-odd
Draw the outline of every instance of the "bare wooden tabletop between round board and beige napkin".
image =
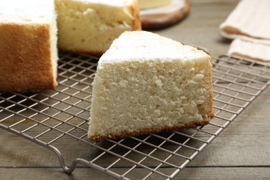
[[238, 1], [190, 1], [188, 17], [176, 26], [154, 30], [179, 42], [204, 46], [210, 55], [218, 56], [228, 51], [231, 40], [224, 39], [218, 30]]

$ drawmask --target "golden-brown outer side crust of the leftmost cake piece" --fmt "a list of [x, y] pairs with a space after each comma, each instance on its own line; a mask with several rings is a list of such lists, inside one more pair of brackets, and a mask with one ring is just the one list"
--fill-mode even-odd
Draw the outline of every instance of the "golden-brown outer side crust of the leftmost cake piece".
[[0, 24], [0, 91], [55, 89], [49, 24]]

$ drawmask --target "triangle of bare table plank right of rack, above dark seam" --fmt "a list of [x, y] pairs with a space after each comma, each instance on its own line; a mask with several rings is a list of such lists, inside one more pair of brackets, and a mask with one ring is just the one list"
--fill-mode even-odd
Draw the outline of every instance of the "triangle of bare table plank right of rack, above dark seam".
[[270, 87], [208, 145], [190, 166], [265, 166], [270, 170], [269, 95]]

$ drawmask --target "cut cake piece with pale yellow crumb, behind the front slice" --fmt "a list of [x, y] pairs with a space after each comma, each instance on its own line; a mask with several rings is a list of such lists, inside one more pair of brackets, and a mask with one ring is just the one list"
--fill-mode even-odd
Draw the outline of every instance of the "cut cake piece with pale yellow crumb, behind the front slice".
[[55, 0], [58, 47], [102, 55], [126, 30], [141, 30], [136, 0]]

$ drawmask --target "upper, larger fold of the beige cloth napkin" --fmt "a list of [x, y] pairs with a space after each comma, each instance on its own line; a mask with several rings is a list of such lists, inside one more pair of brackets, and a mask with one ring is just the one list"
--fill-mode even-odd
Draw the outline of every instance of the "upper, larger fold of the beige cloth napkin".
[[230, 39], [243, 35], [270, 39], [270, 1], [240, 1], [219, 28]]

